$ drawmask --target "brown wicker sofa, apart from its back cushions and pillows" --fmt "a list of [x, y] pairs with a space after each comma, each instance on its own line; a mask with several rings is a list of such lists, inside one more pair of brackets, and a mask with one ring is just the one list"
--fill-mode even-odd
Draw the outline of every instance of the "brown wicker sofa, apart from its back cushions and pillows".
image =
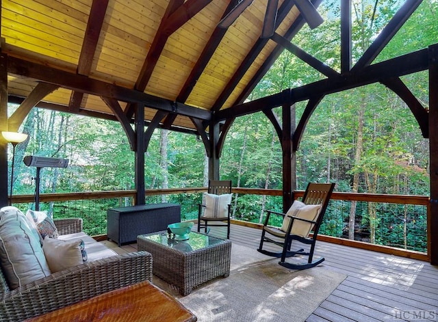
[[[55, 219], [55, 225], [60, 238], [86, 236], [82, 232], [82, 219]], [[148, 252], [122, 255], [109, 249], [102, 252], [101, 243], [94, 241], [99, 245], [96, 251], [100, 254], [96, 257], [90, 243], [88, 246], [86, 243], [89, 258], [98, 259], [57, 271], [17, 289], [10, 289], [1, 271], [0, 321], [23, 321], [123, 286], [152, 280], [152, 256]]]

